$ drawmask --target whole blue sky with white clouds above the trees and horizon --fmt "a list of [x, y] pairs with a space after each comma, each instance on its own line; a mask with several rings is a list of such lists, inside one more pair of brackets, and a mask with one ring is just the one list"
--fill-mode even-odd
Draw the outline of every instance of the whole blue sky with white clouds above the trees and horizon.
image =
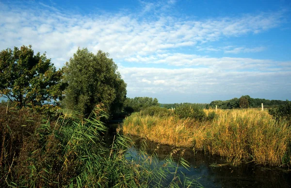
[[108, 52], [131, 98], [291, 100], [291, 0], [0, 0], [0, 50], [22, 45]]

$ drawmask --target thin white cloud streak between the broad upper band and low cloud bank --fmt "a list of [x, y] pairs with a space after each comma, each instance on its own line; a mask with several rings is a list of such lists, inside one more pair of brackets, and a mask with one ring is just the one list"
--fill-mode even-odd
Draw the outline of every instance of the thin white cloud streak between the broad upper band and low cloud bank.
[[[135, 56], [125, 59], [127, 62], [132, 63], [156, 63], [174, 66], [188, 66], [188, 67], [208, 67], [211, 69], [221, 71], [241, 71], [252, 70], [256, 72], [261, 71], [280, 71], [286, 70], [291, 67], [291, 63], [276, 62], [273, 60], [260, 60], [252, 58], [211, 58], [207, 56], [198, 56], [194, 54], [182, 53], [166, 53], [154, 54], [151, 56]], [[274, 69], [275, 68], [275, 69]]]

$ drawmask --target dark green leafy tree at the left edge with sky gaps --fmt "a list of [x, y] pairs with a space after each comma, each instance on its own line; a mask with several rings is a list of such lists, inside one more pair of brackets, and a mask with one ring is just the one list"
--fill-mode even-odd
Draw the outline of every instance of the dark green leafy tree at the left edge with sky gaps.
[[41, 107], [63, 97], [63, 71], [32, 46], [0, 52], [0, 95], [17, 107]]

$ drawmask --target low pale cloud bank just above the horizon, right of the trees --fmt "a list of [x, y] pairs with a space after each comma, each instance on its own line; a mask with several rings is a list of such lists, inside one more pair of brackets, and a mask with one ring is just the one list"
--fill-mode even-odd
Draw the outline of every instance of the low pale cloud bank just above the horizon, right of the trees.
[[[210, 68], [137, 68], [120, 67], [120, 72], [125, 75], [125, 81], [129, 84], [128, 91], [150, 90], [160, 91], [163, 94], [198, 93], [198, 94], [227, 94], [253, 93], [281, 90], [291, 92], [289, 80], [290, 71], [253, 72], [253, 71], [228, 71], [222, 72]], [[135, 80], [145, 79], [146, 84], [140, 85]], [[280, 84], [278, 84], [280, 83]]]

